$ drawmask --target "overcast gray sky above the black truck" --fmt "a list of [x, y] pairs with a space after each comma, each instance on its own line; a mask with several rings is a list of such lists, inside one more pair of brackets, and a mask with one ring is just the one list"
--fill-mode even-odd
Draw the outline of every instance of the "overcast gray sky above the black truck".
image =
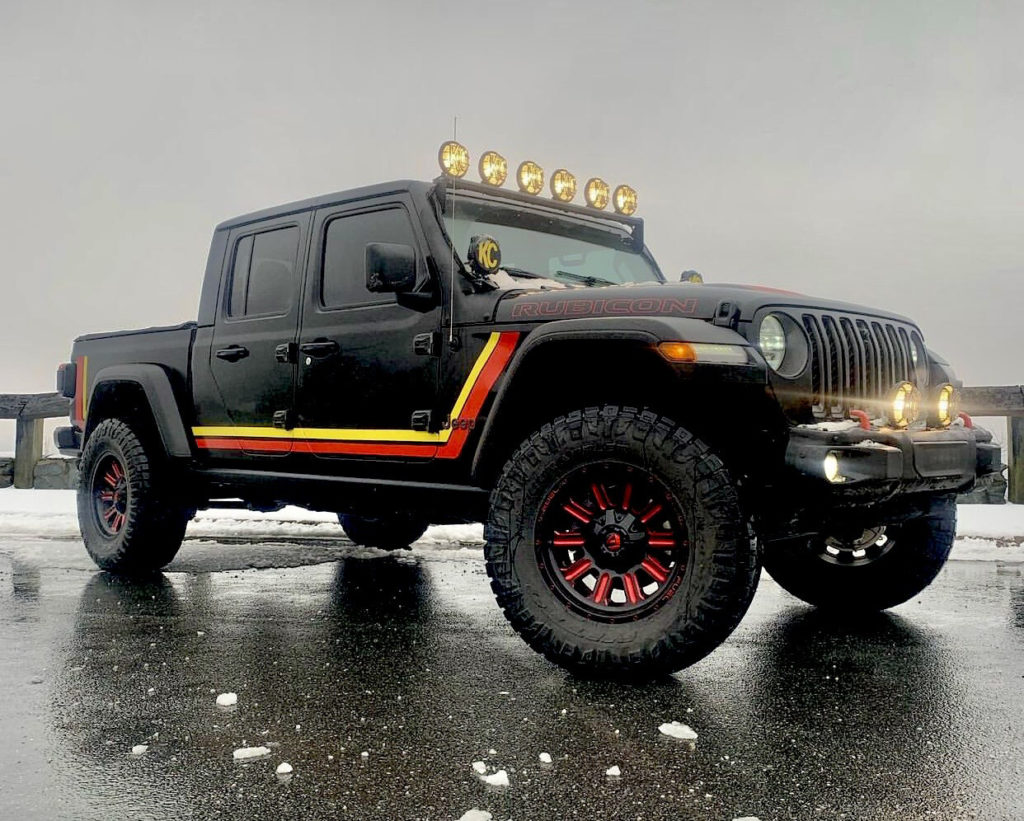
[[[663, 268], [1024, 382], [1024, 4], [0, 4], [0, 392], [195, 316], [214, 224], [474, 157], [629, 182]], [[0, 427], [9, 449], [12, 424]]]

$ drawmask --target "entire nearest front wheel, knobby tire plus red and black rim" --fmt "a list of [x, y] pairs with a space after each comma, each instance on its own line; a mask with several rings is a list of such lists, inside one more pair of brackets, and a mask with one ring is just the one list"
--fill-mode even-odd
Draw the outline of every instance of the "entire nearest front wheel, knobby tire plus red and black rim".
[[492, 492], [490, 586], [552, 661], [649, 677], [702, 658], [739, 623], [760, 556], [735, 485], [698, 439], [649, 410], [545, 425]]

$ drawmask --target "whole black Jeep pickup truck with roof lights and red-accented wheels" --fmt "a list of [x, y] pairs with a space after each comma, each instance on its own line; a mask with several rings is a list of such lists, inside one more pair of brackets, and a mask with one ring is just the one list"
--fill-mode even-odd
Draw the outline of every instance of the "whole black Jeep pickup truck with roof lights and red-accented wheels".
[[916, 325], [668, 283], [632, 189], [573, 205], [560, 169], [542, 199], [524, 163], [505, 190], [493, 153], [468, 182], [464, 152], [224, 222], [196, 321], [75, 341], [55, 438], [97, 565], [161, 568], [217, 506], [337, 512], [384, 549], [483, 521], [519, 635], [627, 676], [723, 642], [762, 562], [846, 612], [935, 578], [955, 493], [1001, 466]]

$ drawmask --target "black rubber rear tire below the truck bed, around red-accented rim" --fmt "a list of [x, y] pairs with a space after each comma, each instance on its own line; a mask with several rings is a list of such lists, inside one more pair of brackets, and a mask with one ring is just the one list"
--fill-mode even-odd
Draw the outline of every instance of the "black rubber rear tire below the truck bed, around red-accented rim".
[[[92, 560], [113, 573], [152, 573], [169, 564], [193, 513], [180, 499], [166, 460], [144, 441], [128, 423], [108, 419], [96, 426], [82, 451], [78, 487], [82, 539]], [[124, 472], [126, 499], [116, 533], [101, 524], [95, 498], [96, 474], [114, 461]]]

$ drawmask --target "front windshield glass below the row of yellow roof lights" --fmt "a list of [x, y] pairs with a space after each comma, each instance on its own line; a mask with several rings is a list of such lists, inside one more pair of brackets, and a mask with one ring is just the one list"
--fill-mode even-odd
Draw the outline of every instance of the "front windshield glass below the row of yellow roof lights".
[[486, 233], [501, 247], [502, 269], [514, 277], [543, 277], [570, 288], [662, 282], [625, 232], [515, 205], [446, 199], [444, 228], [464, 260], [470, 240]]

